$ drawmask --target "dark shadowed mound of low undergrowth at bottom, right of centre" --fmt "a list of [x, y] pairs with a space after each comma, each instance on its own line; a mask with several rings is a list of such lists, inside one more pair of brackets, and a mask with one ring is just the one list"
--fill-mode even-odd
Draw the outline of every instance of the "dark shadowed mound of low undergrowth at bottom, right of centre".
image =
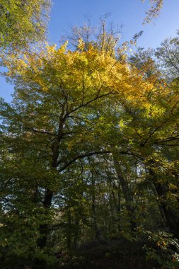
[[125, 239], [92, 241], [74, 251], [63, 269], [151, 269], [158, 263], [146, 261], [142, 242]]

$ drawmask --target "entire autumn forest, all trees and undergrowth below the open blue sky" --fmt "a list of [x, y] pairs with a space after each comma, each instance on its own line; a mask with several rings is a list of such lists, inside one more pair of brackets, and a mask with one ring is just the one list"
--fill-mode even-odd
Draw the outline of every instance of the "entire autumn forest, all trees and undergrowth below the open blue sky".
[[58, 47], [50, 6], [0, 0], [0, 268], [178, 269], [179, 32], [145, 50], [104, 16]]

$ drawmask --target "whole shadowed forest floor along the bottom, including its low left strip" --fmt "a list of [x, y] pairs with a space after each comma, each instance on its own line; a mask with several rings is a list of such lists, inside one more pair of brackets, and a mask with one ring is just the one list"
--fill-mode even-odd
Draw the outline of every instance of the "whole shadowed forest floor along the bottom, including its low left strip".
[[[37, 265], [16, 257], [4, 269], [158, 269], [158, 262], [146, 258], [145, 241], [112, 239], [90, 241], [68, 252], [57, 253], [56, 265]], [[149, 246], [149, 244], [148, 244]], [[153, 246], [154, 247], [154, 246]], [[13, 263], [12, 263], [13, 261]], [[175, 268], [175, 267], [173, 267]]]

